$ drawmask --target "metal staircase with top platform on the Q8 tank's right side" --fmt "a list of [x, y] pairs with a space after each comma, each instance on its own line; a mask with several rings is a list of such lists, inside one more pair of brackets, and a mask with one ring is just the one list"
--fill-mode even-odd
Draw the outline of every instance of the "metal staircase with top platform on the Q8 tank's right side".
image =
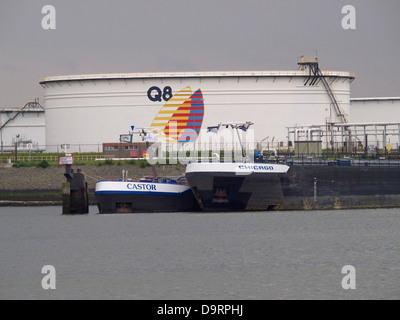
[[301, 56], [300, 58], [298, 58], [297, 64], [300, 66], [299, 69], [301, 70], [305, 70], [307, 68], [310, 70], [310, 76], [307, 78], [304, 85], [308, 84], [310, 86], [313, 86], [318, 82], [318, 80], [322, 81], [329, 95], [329, 98], [332, 101], [333, 107], [335, 108], [336, 115], [340, 118], [342, 123], [346, 123], [347, 115], [343, 113], [342, 108], [339, 106], [339, 103], [336, 99], [334, 92], [332, 91], [331, 86], [329, 85], [328, 81], [326, 80], [326, 77], [319, 68], [318, 58]]

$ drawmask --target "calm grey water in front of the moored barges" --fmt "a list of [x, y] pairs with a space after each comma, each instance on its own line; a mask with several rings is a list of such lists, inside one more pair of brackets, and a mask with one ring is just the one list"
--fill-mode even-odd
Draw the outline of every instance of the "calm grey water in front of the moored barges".
[[[0, 208], [0, 299], [399, 299], [400, 210]], [[42, 267], [56, 269], [44, 290]], [[342, 288], [342, 267], [356, 289]]]

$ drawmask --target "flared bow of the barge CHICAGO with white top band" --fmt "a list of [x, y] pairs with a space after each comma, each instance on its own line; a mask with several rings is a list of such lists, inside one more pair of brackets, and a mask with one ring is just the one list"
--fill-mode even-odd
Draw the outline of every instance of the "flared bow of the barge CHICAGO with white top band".
[[268, 210], [283, 201], [281, 164], [189, 163], [186, 179], [203, 211]]

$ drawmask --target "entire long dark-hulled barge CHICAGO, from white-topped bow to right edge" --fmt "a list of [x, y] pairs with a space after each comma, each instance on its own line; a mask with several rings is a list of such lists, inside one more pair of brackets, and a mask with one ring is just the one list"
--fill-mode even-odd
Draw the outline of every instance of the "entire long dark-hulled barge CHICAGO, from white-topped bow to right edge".
[[398, 164], [192, 163], [186, 179], [203, 211], [400, 207]]

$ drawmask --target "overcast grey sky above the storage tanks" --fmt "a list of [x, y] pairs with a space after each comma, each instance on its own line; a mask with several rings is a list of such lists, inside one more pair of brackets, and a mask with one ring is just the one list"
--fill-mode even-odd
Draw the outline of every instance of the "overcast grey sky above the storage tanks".
[[356, 73], [353, 98], [400, 96], [399, 0], [0, 1], [0, 108], [42, 99], [44, 76], [296, 70], [316, 53], [323, 70]]

